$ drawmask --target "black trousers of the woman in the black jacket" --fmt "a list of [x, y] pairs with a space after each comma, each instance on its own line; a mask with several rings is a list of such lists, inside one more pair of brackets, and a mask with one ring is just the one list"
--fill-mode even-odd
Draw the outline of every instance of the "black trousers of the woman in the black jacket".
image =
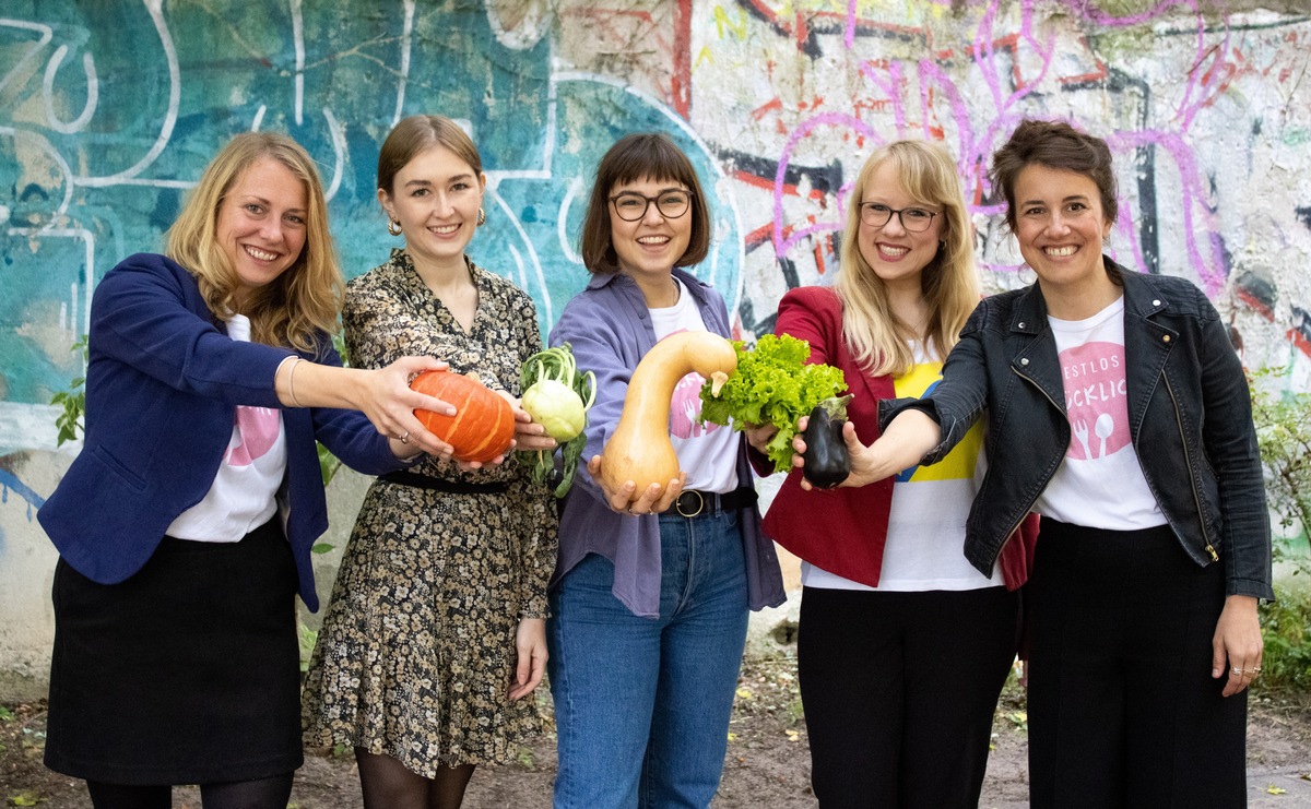
[[1223, 562], [1044, 518], [1025, 597], [1033, 806], [1245, 805], [1247, 691], [1211, 679]]

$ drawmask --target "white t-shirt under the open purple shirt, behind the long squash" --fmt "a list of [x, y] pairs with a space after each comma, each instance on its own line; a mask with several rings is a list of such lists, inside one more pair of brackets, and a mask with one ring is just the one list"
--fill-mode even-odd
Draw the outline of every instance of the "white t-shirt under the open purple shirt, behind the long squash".
[[[662, 340], [679, 331], [708, 331], [701, 312], [696, 308], [687, 287], [678, 279], [678, 302], [673, 306], [650, 309], [656, 339]], [[674, 385], [669, 408], [669, 436], [678, 454], [679, 467], [687, 473], [683, 488], [707, 492], [730, 492], [738, 486], [738, 435], [718, 424], [697, 424], [701, 414], [701, 385], [705, 377], [690, 373]]]

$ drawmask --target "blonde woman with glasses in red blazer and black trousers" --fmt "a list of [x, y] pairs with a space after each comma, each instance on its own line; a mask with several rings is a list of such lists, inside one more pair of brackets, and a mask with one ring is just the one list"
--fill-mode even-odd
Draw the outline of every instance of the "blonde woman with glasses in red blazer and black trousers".
[[[937, 384], [978, 298], [956, 165], [899, 140], [852, 186], [834, 288], [788, 292], [775, 331], [843, 370], [847, 416], [871, 441], [881, 401]], [[747, 431], [762, 474], [772, 435]], [[988, 573], [962, 554], [981, 446], [975, 432], [944, 469], [860, 488], [806, 491], [793, 470], [766, 514], [766, 534], [802, 559], [797, 662], [821, 806], [978, 804], [1025, 579], [1023, 543]]]

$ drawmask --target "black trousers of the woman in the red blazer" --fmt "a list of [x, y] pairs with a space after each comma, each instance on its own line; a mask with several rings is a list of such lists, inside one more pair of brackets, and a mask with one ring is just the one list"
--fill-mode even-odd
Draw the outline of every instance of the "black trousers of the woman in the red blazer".
[[806, 588], [797, 668], [819, 805], [977, 806], [1017, 620], [1000, 586]]

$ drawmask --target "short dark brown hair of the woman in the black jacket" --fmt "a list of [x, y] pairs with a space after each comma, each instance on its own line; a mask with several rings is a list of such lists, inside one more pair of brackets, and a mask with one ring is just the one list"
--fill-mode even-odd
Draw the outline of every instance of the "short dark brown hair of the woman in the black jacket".
[[1061, 171], [1072, 171], [1091, 179], [1101, 196], [1101, 213], [1114, 224], [1120, 212], [1116, 202], [1116, 173], [1106, 141], [1087, 135], [1063, 120], [1025, 119], [1011, 134], [1006, 145], [992, 153], [988, 178], [992, 189], [1006, 196], [1006, 224], [1015, 230], [1015, 182], [1020, 171], [1037, 164]]

